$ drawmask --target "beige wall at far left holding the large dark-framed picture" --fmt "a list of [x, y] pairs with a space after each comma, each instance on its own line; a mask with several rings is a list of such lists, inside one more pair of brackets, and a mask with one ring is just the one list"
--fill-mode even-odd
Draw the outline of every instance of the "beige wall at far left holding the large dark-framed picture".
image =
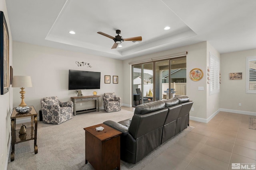
[[[0, 0], [0, 11], [4, 12], [4, 16], [8, 25], [9, 32], [9, 65], [12, 65], [12, 34], [8, 20], [8, 14], [6, 9], [5, 0]], [[12, 110], [12, 88], [9, 88], [9, 92], [4, 95], [0, 95], [0, 169], [7, 169], [8, 155], [10, 149], [10, 111]], [[2, 160], [3, 159], [3, 160]], [[3, 162], [3, 164], [2, 164]]]

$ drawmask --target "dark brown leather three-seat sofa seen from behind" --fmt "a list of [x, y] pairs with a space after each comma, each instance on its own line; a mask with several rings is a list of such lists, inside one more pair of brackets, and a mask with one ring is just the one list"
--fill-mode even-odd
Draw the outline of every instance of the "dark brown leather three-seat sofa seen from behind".
[[103, 123], [122, 132], [121, 159], [136, 164], [188, 127], [192, 104], [187, 96], [159, 100], [137, 106], [132, 119]]

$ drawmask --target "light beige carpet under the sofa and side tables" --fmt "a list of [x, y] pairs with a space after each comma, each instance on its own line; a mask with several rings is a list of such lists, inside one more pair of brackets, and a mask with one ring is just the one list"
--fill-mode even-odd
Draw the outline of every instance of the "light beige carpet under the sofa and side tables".
[[[45, 124], [38, 121], [37, 145], [38, 154], [34, 154], [34, 140], [15, 145], [15, 160], [8, 162], [8, 170], [93, 170], [85, 164], [85, 132], [84, 127], [100, 124], [106, 120], [122, 121], [133, 116], [132, 111], [122, 109], [118, 112], [80, 113], [60, 125]], [[26, 125], [26, 124], [25, 124]], [[17, 125], [19, 129], [21, 125]], [[30, 123], [28, 123], [28, 126]], [[129, 164], [121, 160], [122, 170], [140, 170], [154, 160], [168, 147], [184, 137], [193, 127], [172, 138], [164, 145], [151, 152], [137, 164]]]

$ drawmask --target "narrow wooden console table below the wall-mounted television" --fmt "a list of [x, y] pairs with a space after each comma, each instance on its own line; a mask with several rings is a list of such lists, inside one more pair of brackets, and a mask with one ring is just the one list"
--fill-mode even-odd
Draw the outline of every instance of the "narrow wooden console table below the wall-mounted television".
[[[100, 96], [79, 96], [79, 97], [71, 97], [71, 100], [74, 103], [74, 116], [76, 113], [84, 113], [88, 111], [100, 111]], [[88, 101], [95, 101], [95, 108], [86, 109], [86, 110], [76, 110], [76, 102], [88, 102]]]

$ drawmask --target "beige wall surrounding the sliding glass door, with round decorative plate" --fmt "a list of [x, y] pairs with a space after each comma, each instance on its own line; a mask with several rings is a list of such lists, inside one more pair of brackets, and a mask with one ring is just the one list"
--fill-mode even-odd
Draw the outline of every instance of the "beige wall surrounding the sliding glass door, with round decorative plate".
[[[212, 47], [210, 47], [209, 49], [210, 51], [214, 51], [214, 53], [216, 52], [215, 49], [213, 49]], [[168, 50], [168, 51], [162, 51], [159, 53], [154, 53], [154, 54], [150, 54], [150, 55], [144, 55], [141, 57], [136, 57], [134, 59], [128, 59], [123, 61], [123, 77], [127, 77], [129, 78], [129, 82], [127, 81], [127, 83], [124, 84], [124, 96], [126, 96], [126, 98], [124, 98], [124, 103], [125, 104], [129, 104], [131, 106], [131, 98], [132, 98], [132, 79], [131, 79], [131, 73], [132, 73], [132, 68], [131, 65], [128, 64], [129, 62], [132, 61], [140, 61], [140, 60], [144, 60], [144, 59], [150, 59], [153, 57], [161, 57], [161, 56], [166, 56], [166, 55], [171, 55], [171, 54], [175, 54], [175, 53], [181, 53], [187, 51], [187, 72], [186, 72], [186, 76], [187, 76], [187, 86], [186, 86], [186, 92], [187, 92], [187, 96], [190, 97], [190, 100], [194, 101], [194, 104], [192, 107], [194, 107], [194, 111], [190, 111], [190, 116], [195, 117], [195, 119], [199, 120], [199, 121], [206, 121], [206, 119], [208, 119], [208, 117], [210, 117], [214, 111], [212, 109], [207, 109], [207, 76], [206, 71], [207, 71], [207, 42], [202, 42], [202, 43], [197, 43], [194, 45], [188, 45], [185, 47], [180, 47], [180, 48], [176, 48], [176, 49], [172, 49], [172, 50]], [[203, 70], [204, 72], [204, 77], [199, 80], [199, 81], [192, 81], [189, 78], [189, 72], [190, 70], [192, 70], [193, 68], [200, 68], [201, 70]], [[204, 90], [198, 90], [198, 87], [204, 87]], [[212, 100], [216, 100], [214, 101], [217, 107], [217, 103], [218, 98], [213, 98]]]

